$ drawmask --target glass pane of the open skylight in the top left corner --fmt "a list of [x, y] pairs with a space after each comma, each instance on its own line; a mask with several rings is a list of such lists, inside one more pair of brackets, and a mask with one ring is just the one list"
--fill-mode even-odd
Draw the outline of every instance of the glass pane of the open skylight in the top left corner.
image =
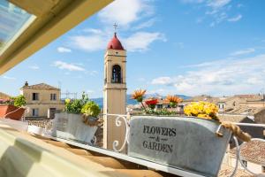
[[34, 19], [34, 15], [27, 13], [18, 6], [6, 0], [0, 1], [0, 54]]

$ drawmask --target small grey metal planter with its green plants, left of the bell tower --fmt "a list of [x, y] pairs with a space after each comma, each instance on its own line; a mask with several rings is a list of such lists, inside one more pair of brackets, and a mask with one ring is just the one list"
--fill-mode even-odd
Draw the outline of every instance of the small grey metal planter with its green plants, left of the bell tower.
[[99, 113], [99, 106], [90, 101], [84, 93], [81, 99], [66, 99], [64, 112], [55, 114], [52, 135], [92, 143], [95, 131], [100, 123], [100, 120], [97, 119]]

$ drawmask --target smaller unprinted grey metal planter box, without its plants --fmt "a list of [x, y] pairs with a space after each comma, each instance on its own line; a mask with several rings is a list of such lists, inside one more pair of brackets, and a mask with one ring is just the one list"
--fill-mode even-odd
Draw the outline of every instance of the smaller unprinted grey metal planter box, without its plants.
[[55, 114], [52, 136], [91, 144], [96, 130], [97, 126], [87, 126], [81, 115], [60, 112]]

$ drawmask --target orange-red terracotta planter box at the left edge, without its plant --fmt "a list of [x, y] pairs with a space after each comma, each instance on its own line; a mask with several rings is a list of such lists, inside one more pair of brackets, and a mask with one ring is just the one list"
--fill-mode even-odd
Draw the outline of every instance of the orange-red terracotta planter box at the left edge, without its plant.
[[[8, 114], [9, 112], [12, 113]], [[0, 105], [0, 118], [19, 120], [22, 118], [24, 112], [25, 112], [24, 108], [19, 108], [14, 105]]]

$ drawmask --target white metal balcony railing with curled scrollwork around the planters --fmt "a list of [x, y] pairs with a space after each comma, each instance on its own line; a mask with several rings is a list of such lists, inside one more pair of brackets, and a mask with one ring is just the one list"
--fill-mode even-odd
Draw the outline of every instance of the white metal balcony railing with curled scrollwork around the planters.
[[[126, 147], [127, 143], [130, 143], [129, 140], [128, 140], [128, 134], [129, 134], [129, 131], [130, 131], [130, 119], [131, 119], [131, 117], [130, 117], [130, 115], [125, 115], [125, 114], [101, 114], [101, 117], [102, 116], [110, 116], [110, 117], [114, 118], [117, 127], [120, 127], [122, 125], [122, 122], [125, 122], [125, 132], [126, 132], [125, 133], [125, 140], [123, 142], [114, 141], [113, 142], [113, 150], [114, 151], [103, 150], [101, 148], [96, 148], [96, 147], [93, 147], [93, 146], [89, 146], [87, 144], [82, 144], [82, 143], [79, 143], [79, 142], [72, 142], [72, 141], [60, 139], [60, 138], [57, 138], [57, 137], [51, 137], [51, 136], [49, 136], [49, 133], [50, 133], [49, 131], [50, 130], [47, 127], [43, 128], [42, 133], [43, 133], [44, 136], [49, 136], [50, 138], [56, 139], [56, 140], [61, 141], [61, 142], [67, 142], [69, 144], [75, 145], [75, 146], [83, 148], [83, 149], [93, 150], [93, 151], [108, 155], [110, 157], [124, 159], [124, 160], [131, 161], [131, 162], [139, 164], [139, 165], [145, 165], [145, 166], [148, 166], [150, 168], [161, 170], [163, 172], [173, 173], [173, 174], [177, 174], [177, 175], [180, 175], [180, 176], [201, 176], [199, 174], [194, 174], [194, 173], [191, 173], [191, 172], [188, 172], [188, 171], [184, 171], [184, 170], [181, 170], [181, 169], [178, 169], [178, 168], [174, 168], [174, 167], [171, 167], [171, 166], [160, 165], [160, 164], [157, 164], [155, 162], [150, 162], [150, 161], [147, 161], [147, 160], [144, 160], [144, 159], [140, 159], [140, 158], [133, 158], [133, 157], [127, 156], [125, 154], [117, 153], [117, 152], [122, 151]], [[14, 123], [12, 123], [12, 124], [14, 124]], [[251, 124], [251, 123], [233, 123], [233, 124], [238, 125], [238, 126], [244, 126], [244, 127], [245, 126], [246, 127], [265, 127], [265, 124]], [[218, 131], [218, 130], [216, 130], [216, 131]], [[251, 173], [251, 174], [254, 174], [254, 176], [257, 176], [258, 175], [257, 173], [252, 172], [251, 170], [249, 170], [246, 167], [246, 165], [244, 164], [244, 162], [243, 162], [243, 160], [242, 160], [242, 158], [240, 156], [241, 147], [243, 147], [247, 142], [243, 142], [242, 144], [239, 145], [239, 141], [238, 141], [238, 139], [235, 136], [233, 136], [233, 140], [236, 143], [236, 165], [235, 165], [235, 168], [234, 168], [234, 170], [233, 170], [233, 172], [231, 173], [230, 176], [232, 177], [232, 176], [234, 176], [237, 173], [237, 171], [239, 169], [239, 164], [242, 165], [242, 167], [248, 173]], [[252, 139], [252, 141], [257, 141], [257, 140], [261, 141], [261, 142], [265, 142], [265, 140], [263, 140], [263, 139], [258, 139], [258, 138], [253, 138]], [[120, 149], [117, 149], [117, 146], [118, 146], [119, 143], [122, 143], [122, 146], [121, 146]]]

